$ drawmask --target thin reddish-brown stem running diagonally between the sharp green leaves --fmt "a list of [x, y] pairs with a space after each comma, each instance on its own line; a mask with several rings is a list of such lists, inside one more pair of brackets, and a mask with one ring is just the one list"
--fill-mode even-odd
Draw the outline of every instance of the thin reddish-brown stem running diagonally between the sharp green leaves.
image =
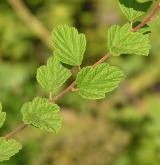
[[[15, 1], [16, 0], [9, 0], [9, 1]], [[17, 0], [19, 1], [19, 0]], [[131, 32], [136, 32], [137, 30], [139, 30], [140, 28], [142, 28], [146, 23], [150, 22], [152, 20], [152, 18], [154, 17], [154, 15], [160, 10], [160, 3], [158, 3], [158, 5], [154, 8], [154, 10], [151, 12], [151, 14], [141, 23], [139, 24], [137, 27], [135, 27], [134, 29], [131, 30]], [[99, 61], [97, 61], [93, 67], [97, 66], [98, 64], [101, 64], [102, 62], [104, 62], [105, 60], [107, 60], [109, 57], [111, 56], [110, 53], [106, 54], [105, 56], [103, 56]], [[59, 95], [55, 96], [53, 99], [49, 99], [48, 101], [50, 103], [55, 103], [56, 101], [58, 101], [61, 97], [63, 97], [66, 93], [68, 93], [69, 91], [72, 91], [72, 89], [75, 87], [76, 82], [73, 81], [66, 89], [64, 89]], [[17, 133], [19, 133], [20, 131], [22, 131], [23, 129], [25, 129], [27, 127], [26, 124], [21, 124], [20, 126], [18, 126], [15, 130], [11, 131], [10, 133], [8, 133], [7, 135], [5, 135], [4, 137], [6, 139], [10, 139], [12, 138], [14, 135], [16, 135]]]

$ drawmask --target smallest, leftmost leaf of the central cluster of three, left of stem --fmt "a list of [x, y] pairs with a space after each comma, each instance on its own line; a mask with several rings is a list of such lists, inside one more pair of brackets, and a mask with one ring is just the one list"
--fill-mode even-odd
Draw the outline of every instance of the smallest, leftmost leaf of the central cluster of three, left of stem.
[[55, 92], [71, 76], [71, 71], [65, 68], [56, 57], [49, 58], [47, 66], [37, 69], [37, 81], [47, 91]]

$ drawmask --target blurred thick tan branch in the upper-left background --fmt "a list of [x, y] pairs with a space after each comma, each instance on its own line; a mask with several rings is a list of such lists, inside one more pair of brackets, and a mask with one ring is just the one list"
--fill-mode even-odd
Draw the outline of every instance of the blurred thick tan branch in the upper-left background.
[[49, 48], [50, 33], [43, 24], [29, 11], [22, 0], [8, 0], [17, 15], [30, 27], [34, 34]]

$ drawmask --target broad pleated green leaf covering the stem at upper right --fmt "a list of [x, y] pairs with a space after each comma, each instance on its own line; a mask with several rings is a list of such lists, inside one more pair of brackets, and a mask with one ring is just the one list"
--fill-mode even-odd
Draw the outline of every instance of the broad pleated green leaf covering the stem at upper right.
[[131, 26], [113, 25], [108, 31], [108, 48], [113, 56], [135, 54], [148, 56], [150, 44], [148, 35], [131, 32]]

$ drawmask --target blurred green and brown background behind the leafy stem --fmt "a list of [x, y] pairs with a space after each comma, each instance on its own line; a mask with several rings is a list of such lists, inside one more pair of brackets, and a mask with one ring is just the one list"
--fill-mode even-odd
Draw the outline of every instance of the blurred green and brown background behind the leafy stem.
[[[117, 0], [23, 2], [0, 0], [0, 100], [7, 112], [1, 135], [21, 123], [24, 102], [37, 95], [47, 96], [36, 82], [36, 68], [52, 55], [50, 34], [56, 25], [72, 25], [85, 33], [86, 66], [107, 52], [108, 28], [127, 21]], [[108, 60], [126, 74], [117, 90], [99, 101], [68, 93], [58, 102], [64, 117], [60, 133], [28, 127], [15, 137], [23, 150], [0, 164], [159, 165], [159, 17], [150, 25], [149, 57], [125, 55]]]

